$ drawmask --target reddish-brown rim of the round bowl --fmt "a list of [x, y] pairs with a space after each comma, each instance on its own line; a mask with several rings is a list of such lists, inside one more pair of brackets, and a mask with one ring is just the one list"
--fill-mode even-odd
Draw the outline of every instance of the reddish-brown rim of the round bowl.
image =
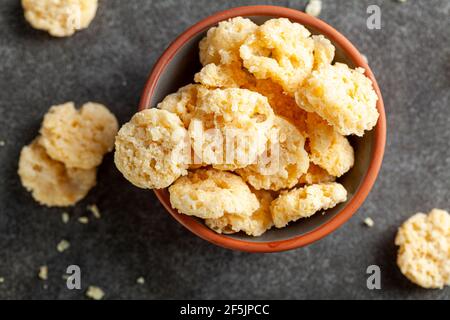
[[344, 37], [341, 33], [335, 30], [333, 27], [327, 23], [319, 20], [315, 17], [307, 15], [304, 12], [290, 9], [281, 6], [270, 6], [270, 5], [257, 5], [257, 6], [244, 6], [235, 7], [227, 9], [224, 11], [217, 12], [211, 16], [202, 19], [198, 23], [194, 24], [186, 31], [184, 31], [180, 36], [178, 36], [164, 51], [161, 57], [158, 59], [154, 65], [148, 80], [145, 84], [144, 91], [141, 96], [139, 111], [149, 107], [152, 96], [158, 84], [158, 80], [166, 68], [167, 64], [172, 60], [178, 50], [193, 36], [200, 32], [203, 32], [210, 27], [216, 25], [220, 21], [227, 20], [233, 17], [242, 16], [272, 16], [272, 17], [283, 17], [288, 18], [291, 21], [299, 22], [306, 26], [313, 27], [320, 31], [321, 34], [326, 36], [332, 42], [339, 44], [343, 49], [345, 54], [350, 60], [353, 61], [355, 66], [362, 67], [366, 70], [365, 74], [372, 80], [373, 87], [378, 95], [377, 109], [380, 114], [378, 123], [373, 130], [374, 132], [374, 149], [371, 156], [371, 161], [369, 168], [361, 181], [358, 189], [356, 190], [353, 197], [348, 201], [344, 208], [342, 208], [333, 218], [319, 226], [318, 228], [311, 230], [308, 233], [295, 236], [290, 239], [285, 240], [275, 240], [268, 242], [251, 242], [241, 239], [230, 238], [226, 235], [218, 234], [210, 230], [206, 225], [200, 223], [195, 218], [179, 214], [174, 210], [167, 198], [164, 197], [164, 189], [154, 190], [158, 200], [163, 204], [166, 210], [174, 217], [179, 223], [181, 223], [188, 230], [199, 236], [200, 238], [207, 240], [215, 245], [239, 250], [246, 252], [259, 252], [259, 253], [269, 253], [269, 252], [280, 252], [286, 250], [292, 250], [299, 247], [306, 246], [323, 237], [329, 235], [341, 225], [343, 225], [347, 220], [349, 220], [353, 214], [359, 209], [363, 204], [364, 200], [369, 195], [378, 173], [381, 168], [383, 161], [384, 150], [386, 145], [386, 115], [384, 110], [383, 97], [380, 92], [380, 88], [375, 79], [375, 76], [368, 66], [365, 59], [362, 57], [361, 53], [353, 46], [353, 44]]

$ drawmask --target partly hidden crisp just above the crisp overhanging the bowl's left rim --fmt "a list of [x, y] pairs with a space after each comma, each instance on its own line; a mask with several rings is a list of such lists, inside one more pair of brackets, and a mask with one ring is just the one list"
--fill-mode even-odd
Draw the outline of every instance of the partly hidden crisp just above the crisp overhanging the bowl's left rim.
[[183, 121], [184, 127], [187, 129], [197, 105], [199, 90], [205, 90], [205, 88], [195, 84], [181, 87], [177, 92], [165, 97], [156, 107], [175, 113]]

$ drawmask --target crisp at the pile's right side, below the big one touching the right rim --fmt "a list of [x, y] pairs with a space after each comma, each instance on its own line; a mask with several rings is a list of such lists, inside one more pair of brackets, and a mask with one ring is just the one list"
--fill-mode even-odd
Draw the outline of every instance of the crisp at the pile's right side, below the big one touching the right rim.
[[335, 177], [348, 172], [355, 154], [347, 138], [314, 113], [307, 115], [306, 123], [311, 161]]

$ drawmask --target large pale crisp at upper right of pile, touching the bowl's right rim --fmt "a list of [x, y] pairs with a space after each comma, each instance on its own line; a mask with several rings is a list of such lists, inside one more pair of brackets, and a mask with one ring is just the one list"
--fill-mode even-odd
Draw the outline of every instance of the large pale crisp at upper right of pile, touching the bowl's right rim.
[[336, 63], [323, 66], [296, 93], [300, 108], [315, 112], [340, 134], [362, 136], [377, 123], [378, 96], [364, 69]]

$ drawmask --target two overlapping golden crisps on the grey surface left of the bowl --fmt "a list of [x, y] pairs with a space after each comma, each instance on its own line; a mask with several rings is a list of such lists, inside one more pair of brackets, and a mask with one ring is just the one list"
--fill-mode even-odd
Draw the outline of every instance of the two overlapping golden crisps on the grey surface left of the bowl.
[[89, 102], [79, 111], [72, 102], [51, 107], [40, 135], [20, 153], [22, 185], [42, 205], [74, 205], [95, 186], [97, 166], [112, 150], [117, 129], [103, 105]]

